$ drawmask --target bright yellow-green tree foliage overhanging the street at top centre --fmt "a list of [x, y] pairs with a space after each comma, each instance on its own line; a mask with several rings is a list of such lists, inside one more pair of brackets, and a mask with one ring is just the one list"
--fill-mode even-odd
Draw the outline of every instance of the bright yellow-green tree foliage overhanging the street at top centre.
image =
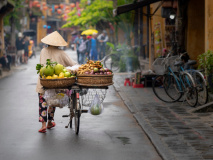
[[[69, 18], [67, 19], [67, 23], [62, 27], [80, 26], [81, 29], [86, 29], [89, 28], [89, 26], [94, 27], [100, 21], [111, 22], [115, 28], [116, 35], [118, 29], [122, 29], [128, 44], [131, 44], [134, 14], [132, 14], [133, 12], [128, 12], [114, 17], [113, 6], [120, 6], [132, 2], [133, 0], [117, 0], [113, 4], [113, 1], [109, 0], [93, 0], [90, 5], [87, 5], [87, 0], [81, 0], [81, 15], [78, 15], [78, 9], [74, 8], [68, 14]], [[115, 5], [115, 3], [117, 3], [117, 5]]]

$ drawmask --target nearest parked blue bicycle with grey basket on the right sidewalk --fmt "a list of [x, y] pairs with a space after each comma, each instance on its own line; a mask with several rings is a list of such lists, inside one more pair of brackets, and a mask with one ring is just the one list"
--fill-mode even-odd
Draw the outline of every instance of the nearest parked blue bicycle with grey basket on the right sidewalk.
[[[198, 102], [198, 93], [192, 76], [186, 71], [178, 72], [174, 61], [177, 56], [166, 58], [158, 58], [153, 63], [156, 76], [153, 79], [152, 89], [158, 99], [173, 103], [181, 99], [185, 95], [185, 100], [192, 107]], [[177, 64], [179, 66], [179, 64]]]

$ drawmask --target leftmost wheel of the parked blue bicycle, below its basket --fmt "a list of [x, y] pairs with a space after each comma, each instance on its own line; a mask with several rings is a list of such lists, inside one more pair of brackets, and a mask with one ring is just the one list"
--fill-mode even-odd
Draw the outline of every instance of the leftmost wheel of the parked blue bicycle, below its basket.
[[165, 89], [165, 87], [168, 88], [168, 86], [172, 85], [172, 83], [164, 85], [165, 79], [168, 79], [166, 77], [167, 75], [156, 76], [152, 81], [152, 89], [158, 99], [160, 99], [163, 102], [173, 103], [177, 101], [179, 97], [172, 99], [166, 93], [166, 90], [168, 89]]

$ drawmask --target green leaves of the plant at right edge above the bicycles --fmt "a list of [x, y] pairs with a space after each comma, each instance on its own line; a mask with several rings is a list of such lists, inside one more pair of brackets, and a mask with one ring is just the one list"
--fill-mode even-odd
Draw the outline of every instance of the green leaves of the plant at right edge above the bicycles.
[[207, 52], [198, 56], [199, 68], [205, 69], [207, 74], [213, 73], [213, 51], [208, 50]]

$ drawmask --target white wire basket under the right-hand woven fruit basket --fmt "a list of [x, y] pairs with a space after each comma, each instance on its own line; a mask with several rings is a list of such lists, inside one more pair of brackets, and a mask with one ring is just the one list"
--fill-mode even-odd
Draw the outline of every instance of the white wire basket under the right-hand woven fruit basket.
[[107, 89], [88, 89], [84, 94], [80, 94], [82, 106], [90, 106], [97, 94], [101, 103], [106, 97]]

